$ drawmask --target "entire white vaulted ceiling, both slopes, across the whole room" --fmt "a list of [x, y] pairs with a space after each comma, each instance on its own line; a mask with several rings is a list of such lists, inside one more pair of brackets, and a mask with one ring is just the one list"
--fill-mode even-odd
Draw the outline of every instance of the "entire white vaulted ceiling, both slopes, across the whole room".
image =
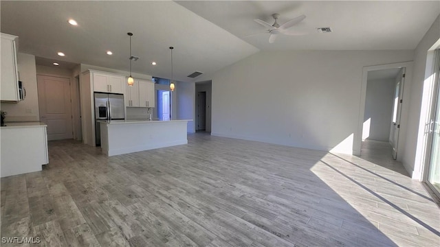
[[[133, 32], [133, 71], [174, 79], [194, 71], [210, 75], [259, 50], [415, 49], [440, 13], [440, 1], [0, 1], [1, 32], [19, 36], [19, 51], [51, 60], [129, 70], [129, 36]], [[272, 24], [300, 14], [292, 27], [306, 36], [279, 36], [274, 44], [252, 21]], [[67, 19], [78, 21], [73, 27]], [[332, 27], [318, 34], [316, 27]], [[112, 56], [105, 51], [113, 51]], [[66, 56], [59, 57], [57, 51]], [[151, 62], [157, 62], [156, 66]]]

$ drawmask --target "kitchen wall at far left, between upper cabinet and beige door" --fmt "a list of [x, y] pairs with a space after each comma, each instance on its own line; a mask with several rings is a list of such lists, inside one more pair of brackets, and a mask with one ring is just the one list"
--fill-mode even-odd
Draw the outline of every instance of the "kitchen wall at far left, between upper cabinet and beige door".
[[40, 121], [35, 56], [17, 53], [17, 67], [26, 97], [18, 103], [1, 103], [1, 110], [8, 113], [5, 121]]

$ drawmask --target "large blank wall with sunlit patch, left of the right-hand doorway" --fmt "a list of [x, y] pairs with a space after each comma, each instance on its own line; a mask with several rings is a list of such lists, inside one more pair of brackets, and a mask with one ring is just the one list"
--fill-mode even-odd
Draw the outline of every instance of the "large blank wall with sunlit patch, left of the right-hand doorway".
[[413, 52], [254, 54], [214, 74], [211, 134], [351, 154], [362, 68], [409, 61]]

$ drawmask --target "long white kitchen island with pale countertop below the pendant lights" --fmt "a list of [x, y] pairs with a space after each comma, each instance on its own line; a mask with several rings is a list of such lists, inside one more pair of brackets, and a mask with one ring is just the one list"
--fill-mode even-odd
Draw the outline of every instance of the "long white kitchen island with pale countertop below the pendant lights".
[[188, 121], [99, 121], [102, 152], [113, 156], [187, 144]]

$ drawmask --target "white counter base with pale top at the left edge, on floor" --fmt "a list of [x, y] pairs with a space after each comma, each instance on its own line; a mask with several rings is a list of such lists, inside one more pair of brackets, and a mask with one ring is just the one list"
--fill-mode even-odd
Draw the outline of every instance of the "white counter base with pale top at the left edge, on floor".
[[35, 122], [9, 122], [0, 127], [0, 176], [41, 171], [49, 163], [47, 125]]

